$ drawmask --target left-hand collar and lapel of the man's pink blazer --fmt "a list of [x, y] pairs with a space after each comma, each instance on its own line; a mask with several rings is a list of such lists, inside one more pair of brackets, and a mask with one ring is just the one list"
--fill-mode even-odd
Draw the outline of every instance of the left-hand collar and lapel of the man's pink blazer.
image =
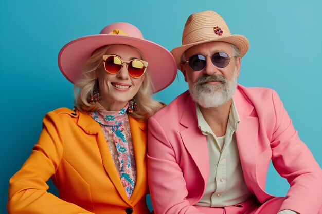
[[191, 155], [201, 173], [201, 176], [203, 177], [205, 188], [209, 177], [207, 139], [198, 127], [195, 102], [192, 100], [191, 96], [188, 96], [186, 102], [184, 105], [180, 106], [180, 108], [183, 109], [180, 124], [186, 127], [186, 129], [180, 131], [180, 135], [187, 151]]

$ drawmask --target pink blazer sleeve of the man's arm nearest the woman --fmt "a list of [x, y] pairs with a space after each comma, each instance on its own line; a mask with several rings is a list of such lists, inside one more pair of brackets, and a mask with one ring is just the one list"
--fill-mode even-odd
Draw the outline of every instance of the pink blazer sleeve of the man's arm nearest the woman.
[[186, 198], [183, 172], [163, 128], [154, 118], [148, 127], [148, 182], [154, 213], [200, 213]]

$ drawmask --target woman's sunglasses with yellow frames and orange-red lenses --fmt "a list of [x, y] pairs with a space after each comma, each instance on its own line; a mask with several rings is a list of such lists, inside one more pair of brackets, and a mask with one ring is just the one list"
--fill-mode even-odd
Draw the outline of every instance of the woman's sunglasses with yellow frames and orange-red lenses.
[[148, 62], [144, 60], [122, 60], [116, 55], [103, 55], [103, 64], [106, 72], [110, 74], [117, 74], [120, 72], [123, 63], [127, 64], [128, 73], [133, 78], [141, 77], [147, 70]]

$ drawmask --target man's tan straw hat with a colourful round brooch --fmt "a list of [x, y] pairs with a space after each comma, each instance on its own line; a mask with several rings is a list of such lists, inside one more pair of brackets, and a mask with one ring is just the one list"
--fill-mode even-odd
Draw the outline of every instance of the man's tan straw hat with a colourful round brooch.
[[224, 19], [211, 10], [193, 13], [189, 16], [182, 33], [182, 46], [171, 50], [180, 69], [182, 54], [192, 46], [213, 42], [228, 42], [237, 46], [244, 56], [249, 48], [249, 42], [243, 35], [231, 35]]

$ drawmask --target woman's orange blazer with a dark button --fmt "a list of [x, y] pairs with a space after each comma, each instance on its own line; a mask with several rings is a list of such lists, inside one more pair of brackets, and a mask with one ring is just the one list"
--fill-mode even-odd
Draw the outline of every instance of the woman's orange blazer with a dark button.
[[[150, 213], [146, 206], [147, 123], [129, 115], [136, 185], [127, 198], [100, 125], [60, 108], [43, 120], [38, 143], [9, 181], [8, 213]], [[59, 198], [48, 193], [51, 177]]]

